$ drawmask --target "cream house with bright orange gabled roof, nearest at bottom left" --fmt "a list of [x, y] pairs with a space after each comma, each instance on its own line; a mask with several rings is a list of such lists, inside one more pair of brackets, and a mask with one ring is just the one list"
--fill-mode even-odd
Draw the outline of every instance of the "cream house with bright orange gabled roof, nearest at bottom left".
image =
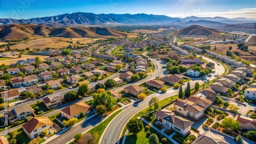
[[53, 122], [48, 117], [34, 117], [22, 125], [24, 132], [30, 139], [41, 135], [44, 129], [52, 129]]

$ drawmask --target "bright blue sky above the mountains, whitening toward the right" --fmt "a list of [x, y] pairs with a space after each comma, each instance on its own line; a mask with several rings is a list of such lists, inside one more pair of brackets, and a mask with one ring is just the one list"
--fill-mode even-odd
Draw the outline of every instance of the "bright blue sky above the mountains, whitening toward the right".
[[27, 19], [74, 12], [256, 18], [256, 0], [0, 0], [0, 18]]

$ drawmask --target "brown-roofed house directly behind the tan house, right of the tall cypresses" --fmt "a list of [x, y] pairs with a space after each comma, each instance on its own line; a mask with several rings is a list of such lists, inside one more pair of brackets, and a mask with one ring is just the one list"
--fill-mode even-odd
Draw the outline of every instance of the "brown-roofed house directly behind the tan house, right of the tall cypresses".
[[197, 105], [203, 107], [204, 110], [210, 108], [211, 104], [213, 103], [210, 100], [205, 99], [204, 97], [198, 97], [197, 95], [191, 95], [186, 100], [196, 103]]

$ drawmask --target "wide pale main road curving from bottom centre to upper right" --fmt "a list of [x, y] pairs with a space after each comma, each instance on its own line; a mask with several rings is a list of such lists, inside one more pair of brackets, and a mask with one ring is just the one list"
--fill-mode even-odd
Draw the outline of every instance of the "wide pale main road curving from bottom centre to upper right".
[[[224, 67], [222, 67], [222, 65], [217, 65], [217, 63], [209, 58], [203, 57], [203, 59], [209, 61], [209, 62], [214, 62], [216, 65], [216, 68], [214, 69], [215, 74], [219, 74], [222, 75], [225, 71]], [[216, 77], [209, 77], [209, 80], [213, 80]], [[190, 82], [190, 86], [194, 87], [196, 82], [199, 82], [200, 84], [203, 83], [203, 81], [201, 80], [195, 80], [195, 81], [191, 81]], [[182, 86], [182, 89], [185, 89], [186, 84]], [[105, 130], [105, 133], [102, 135], [102, 144], [113, 144], [116, 143], [119, 138], [121, 137], [122, 134], [122, 129], [125, 126], [125, 124], [129, 121], [129, 119], [136, 113], [138, 113], [139, 111], [141, 111], [142, 109], [146, 108], [148, 106], [148, 101], [150, 101], [150, 99], [152, 97], [157, 97], [159, 100], [163, 100], [165, 98], [168, 98], [172, 95], [175, 95], [179, 92], [179, 89], [171, 89], [166, 91], [164, 94], [159, 94], [159, 93], [154, 93], [152, 95], [150, 95], [149, 97], [147, 97], [144, 101], [142, 101], [139, 104], [139, 107], [128, 107], [125, 110], [123, 110], [119, 115], [117, 115], [112, 123], [109, 124], [109, 127]]]

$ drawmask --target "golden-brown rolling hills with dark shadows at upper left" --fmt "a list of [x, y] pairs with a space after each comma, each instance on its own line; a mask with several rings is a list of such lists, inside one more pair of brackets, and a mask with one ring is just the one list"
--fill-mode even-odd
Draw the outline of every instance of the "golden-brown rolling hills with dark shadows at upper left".
[[39, 25], [5, 25], [0, 26], [0, 40], [30, 40], [44, 37], [65, 38], [106, 38], [134, 37], [135, 34], [123, 33], [110, 28], [57, 28]]

